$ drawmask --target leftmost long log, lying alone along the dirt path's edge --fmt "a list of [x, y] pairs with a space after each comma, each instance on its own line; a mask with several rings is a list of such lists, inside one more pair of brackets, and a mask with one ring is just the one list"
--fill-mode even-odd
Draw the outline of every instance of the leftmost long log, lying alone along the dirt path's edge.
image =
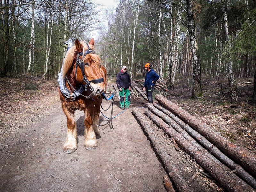
[[158, 142], [158, 138], [154, 130], [150, 127], [147, 122], [147, 119], [140, 113], [137, 108], [132, 108], [133, 115], [140, 122], [143, 130], [147, 133], [149, 140], [151, 140], [153, 146], [156, 149], [157, 154], [161, 158], [165, 168], [167, 169], [173, 183], [179, 192], [191, 192], [184, 178], [179, 174], [180, 171], [177, 169], [175, 164], [172, 162], [170, 156], [167, 151], [163, 148], [163, 146]]

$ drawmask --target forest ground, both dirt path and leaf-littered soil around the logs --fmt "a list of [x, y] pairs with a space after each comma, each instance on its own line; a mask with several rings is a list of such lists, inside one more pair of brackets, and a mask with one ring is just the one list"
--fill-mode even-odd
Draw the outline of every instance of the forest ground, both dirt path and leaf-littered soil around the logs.
[[[185, 77], [180, 80], [168, 99], [228, 140], [255, 152], [256, 108], [247, 104], [246, 96], [242, 103], [232, 105], [225, 95], [212, 96], [220, 92], [220, 83], [204, 79], [203, 97], [192, 100], [186, 81]], [[245, 95], [247, 85], [241, 85], [239, 90]], [[228, 92], [227, 86], [222, 83], [222, 92]], [[248, 90], [251, 93], [251, 84]], [[167, 173], [131, 109], [113, 119], [115, 129], [100, 114], [101, 138], [94, 151], [83, 146], [84, 113], [77, 111], [78, 149], [65, 154], [66, 117], [56, 81], [1, 78], [0, 95], [0, 191], [165, 191], [162, 179]], [[104, 108], [108, 105], [103, 101]], [[142, 97], [131, 98], [131, 108], [143, 113], [146, 106]], [[113, 111], [113, 115], [122, 112], [118, 99]], [[110, 110], [104, 114], [109, 117]], [[196, 174], [190, 183], [193, 191], [223, 191], [215, 180], [197, 174], [195, 168], [204, 170], [183, 150], [173, 150], [170, 138], [152, 127], [184, 179]]]

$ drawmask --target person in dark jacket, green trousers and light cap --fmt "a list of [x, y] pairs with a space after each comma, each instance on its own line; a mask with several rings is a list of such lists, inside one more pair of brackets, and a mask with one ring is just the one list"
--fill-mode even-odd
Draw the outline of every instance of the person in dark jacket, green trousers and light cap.
[[[131, 99], [131, 79], [129, 74], [127, 73], [127, 67], [124, 65], [121, 71], [116, 76], [116, 85], [119, 89], [120, 95], [120, 107], [121, 109], [129, 108], [130, 99]], [[124, 103], [124, 93], [125, 93], [125, 103]]]

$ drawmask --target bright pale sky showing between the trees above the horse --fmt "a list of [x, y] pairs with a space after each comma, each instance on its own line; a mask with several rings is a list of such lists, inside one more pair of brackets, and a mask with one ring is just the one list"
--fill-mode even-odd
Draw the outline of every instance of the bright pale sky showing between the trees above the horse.
[[[118, 5], [118, 0], [92, 0], [92, 3], [95, 4], [99, 4], [96, 8], [96, 11], [100, 11], [100, 25], [104, 25], [105, 27], [108, 26], [108, 22], [105, 19], [106, 15], [105, 15], [105, 10], [106, 9], [115, 9]], [[91, 38], [94, 38], [94, 40], [97, 40], [99, 34], [98, 34], [98, 30], [92, 31], [91, 32]]]

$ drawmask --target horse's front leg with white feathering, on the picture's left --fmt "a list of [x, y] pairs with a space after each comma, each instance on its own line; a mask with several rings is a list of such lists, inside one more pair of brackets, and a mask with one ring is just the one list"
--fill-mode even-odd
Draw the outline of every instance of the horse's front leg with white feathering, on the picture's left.
[[63, 146], [64, 153], [73, 153], [77, 149], [77, 131], [74, 111], [68, 110], [65, 104], [62, 104], [62, 109], [67, 117], [67, 137]]

